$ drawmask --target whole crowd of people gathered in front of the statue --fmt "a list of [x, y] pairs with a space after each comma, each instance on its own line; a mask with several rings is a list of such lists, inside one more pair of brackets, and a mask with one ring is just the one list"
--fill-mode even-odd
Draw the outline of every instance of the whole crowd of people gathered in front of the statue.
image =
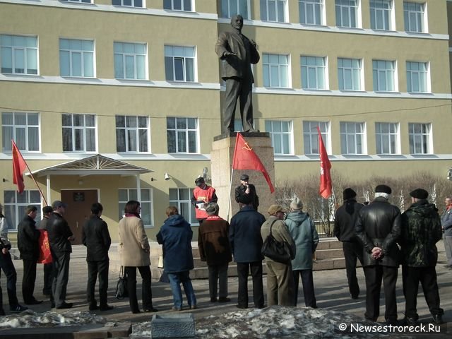
[[[196, 209], [198, 249], [201, 261], [208, 266], [210, 302], [230, 302], [228, 297], [228, 266], [237, 263], [237, 307], [249, 307], [248, 276], [251, 273], [254, 307], [265, 307], [263, 290], [263, 260], [266, 261], [268, 306], [297, 306], [299, 278], [302, 280], [304, 304], [316, 308], [313, 258], [319, 244], [314, 221], [303, 211], [303, 203], [295, 197], [290, 210], [280, 205], [268, 208], [268, 218], [258, 212], [258, 196], [248, 175], [240, 177], [235, 189], [239, 211], [230, 222], [220, 218], [215, 189], [200, 177], [195, 181], [191, 201]], [[381, 285], [385, 297], [386, 323], [398, 321], [396, 282], [398, 267], [402, 265], [403, 294], [405, 296], [405, 323], [415, 325], [417, 293], [422, 285], [424, 297], [433, 321], [443, 322], [444, 310], [440, 307], [439, 288], [435, 266], [438, 260], [436, 242], [443, 237], [448, 262], [452, 268], [452, 198], [446, 198], [446, 210], [439, 215], [434, 204], [429, 203], [429, 193], [424, 189], [410, 192], [412, 205], [400, 213], [397, 206], [389, 203], [391, 188], [384, 184], [376, 186], [374, 200], [364, 205], [356, 201], [353, 189], [343, 191], [343, 206], [335, 212], [333, 233], [343, 243], [343, 254], [350, 296], [359, 298], [357, 261], [364, 270], [366, 283], [366, 312], [369, 321], [379, 318]], [[18, 225], [18, 249], [23, 261], [22, 293], [26, 305], [40, 304], [34, 296], [37, 262], [40, 260], [42, 235], [46, 235], [52, 263], [44, 264], [43, 294], [49, 295], [52, 307], [69, 309], [66, 287], [69, 280], [69, 262], [73, 234], [64, 219], [67, 205], [54, 201], [52, 207], [42, 209], [43, 219], [36, 227], [37, 208], [28, 206]], [[108, 311], [107, 303], [109, 247], [111, 238], [107, 223], [102, 220], [103, 207], [93, 203], [91, 215], [83, 225], [82, 242], [87, 247], [88, 283], [86, 297], [90, 310]], [[138, 201], [129, 201], [124, 208], [124, 218], [119, 220], [119, 254], [127, 280], [130, 310], [140, 313], [138, 306], [136, 271], [141, 275], [142, 310], [156, 312], [153, 307], [150, 272], [150, 244], [141, 220]], [[172, 290], [173, 311], [182, 311], [184, 301], [181, 284], [186, 295], [186, 308], [196, 309], [196, 295], [189, 272], [194, 269], [191, 249], [193, 231], [191, 225], [179, 214], [176, 206], [166, 210], [167, 219], [156, 240], [162, 244], [163, 268]], [[285, 244], [287, 260], [263, 256], [262, 247], [267, 237]], [[16, 270], [11, 261], [8, 226], [0, 206], [0, 266], [7, 280], [11, 312], [27, 309], [18, 303], [16, 296]], [[99, 303], [95, 298], [95, 285], [99, 280]], [[0, 290], [0, 302], [3, 306]], [[3, 307], [0, 315], [4, 315]]]

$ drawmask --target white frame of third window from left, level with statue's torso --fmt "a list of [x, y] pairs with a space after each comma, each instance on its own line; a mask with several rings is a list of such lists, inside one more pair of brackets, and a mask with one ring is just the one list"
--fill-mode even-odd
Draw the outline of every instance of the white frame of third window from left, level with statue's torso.
[[[121, 46], [120, 46], [121, 45]], [[133, 45], [134, 52], [124, 52], [124, 47], [129, 47]], [[119, 49], [121, 47], [122, 51], [117, 51], [117, 48]], [[136, 52], [136, 49], [138, 47], [144, 47], [144, 53]], [[121, 58], [121, 64], [122, 64], [122, 78], [119, 76], [119, 71], [117, 70], [117, 59]], [[133, 58], [133, 77], [127, 77], [127, 69], [128, 64], [127, 61], [129, 58]], [[115, 79], [121, 79], [121, 80], [148, 80], [148, 44], [145, 42], [120, 42], [115, 41], [113, 42], [113, 58], [114, 58], [114, 78]], [[143, 59], [142, 61], [140, 59]], [[143, 62], [143, 64], [141, 64]], [[139, 71], [139, 69], [143, 69], [142, 72]], [[138, 74], [143, 73], [143, 76], [140, 77]]]

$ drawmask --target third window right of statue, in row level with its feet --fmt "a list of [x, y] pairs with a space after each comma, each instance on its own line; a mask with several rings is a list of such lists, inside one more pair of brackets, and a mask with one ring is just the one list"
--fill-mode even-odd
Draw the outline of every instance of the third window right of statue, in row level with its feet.
[[364, 122], [340, 123], [340, 148], [343, 154], [365, 154]]

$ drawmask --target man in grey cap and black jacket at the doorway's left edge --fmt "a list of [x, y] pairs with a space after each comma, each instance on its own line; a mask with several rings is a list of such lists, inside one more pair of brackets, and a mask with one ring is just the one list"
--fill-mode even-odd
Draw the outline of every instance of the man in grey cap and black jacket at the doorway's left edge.
[[53, 259], [54, 281], [52, 285], [52, 307], [57, 309], [70, 309], [71, 302], [66, 302], [66, 290], [69, 282], [69, 261], [71, 260], [73, 234], [63, 215], [67, 204], [54, 201], [54, 213], [47, 221], [50, 251]]

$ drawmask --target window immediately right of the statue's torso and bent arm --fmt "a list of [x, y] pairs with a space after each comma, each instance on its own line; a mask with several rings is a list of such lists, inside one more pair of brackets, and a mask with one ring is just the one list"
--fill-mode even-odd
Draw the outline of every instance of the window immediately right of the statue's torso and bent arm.
[[289, 87], [289, 56], [263, 54], [263, 85], [265, 87]]

